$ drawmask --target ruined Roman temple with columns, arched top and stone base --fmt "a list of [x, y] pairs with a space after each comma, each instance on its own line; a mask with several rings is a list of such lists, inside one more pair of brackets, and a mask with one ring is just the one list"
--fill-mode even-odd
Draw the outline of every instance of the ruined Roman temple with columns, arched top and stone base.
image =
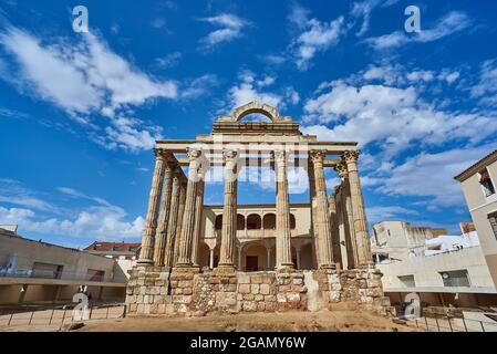
[[[250, 114], [270, 122], [242, 121]], [[318, 310], [341, 302], [385, 311], [382, 274], [371, 266], [356, 143], [318, 142], [276, 108], [252, 102], [215, 121], [211, 134], [157, 140], [154, 153], [128, 313]], [[276, 205], [239, 208], [246, 166], [273, 169]], [[224, 170], [219, 207], [204, 206], [213, 167]], [[309, 205], [290, 205], [289, 168], [307, 171]], [[330, 196], [325, 168], [342, 180]], [[266, 250], [263, 262], [253, 247]]]

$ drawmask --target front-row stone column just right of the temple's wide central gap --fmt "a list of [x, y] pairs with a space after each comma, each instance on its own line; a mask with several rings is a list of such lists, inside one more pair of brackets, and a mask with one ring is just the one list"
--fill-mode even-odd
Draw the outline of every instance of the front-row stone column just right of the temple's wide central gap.
[[290, 202], [288, 198], [287, 153], [276, 150], [276, 268], [292, 269], [290, 237]]

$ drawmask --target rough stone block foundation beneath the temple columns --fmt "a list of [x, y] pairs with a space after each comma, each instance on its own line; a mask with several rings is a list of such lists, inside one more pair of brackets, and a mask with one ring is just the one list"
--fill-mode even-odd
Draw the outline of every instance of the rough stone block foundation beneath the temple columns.
[[349, 303], [390, 314], [377, 270], [292, 272], [204, 271], [195, 268], [135, 267], [126, 290], [127, 314], [332, 310]]

